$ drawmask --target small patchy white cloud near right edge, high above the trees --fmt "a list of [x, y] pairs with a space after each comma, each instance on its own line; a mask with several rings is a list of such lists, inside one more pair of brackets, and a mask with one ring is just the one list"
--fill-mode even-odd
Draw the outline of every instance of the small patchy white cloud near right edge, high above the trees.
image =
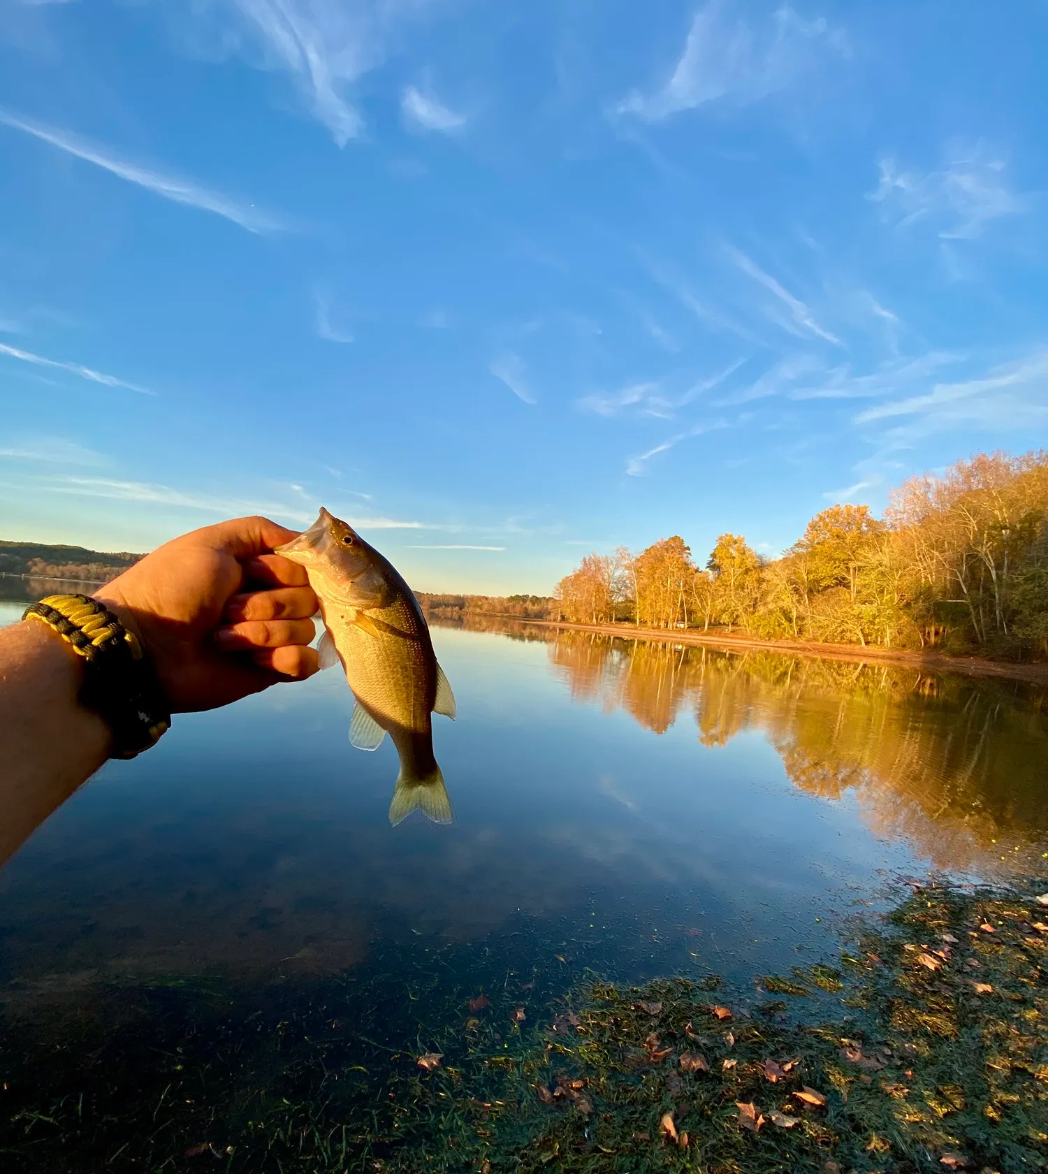
[[893, 158], [880, 161], [880, 178], [868, 197], [898, 228], [927, 222], [945, 241], [971, 241], [987, 225], [1029, 209], [1007, 180], [1007, 163], [983, 143], [954, 149], [935, 171], [902, 171]]

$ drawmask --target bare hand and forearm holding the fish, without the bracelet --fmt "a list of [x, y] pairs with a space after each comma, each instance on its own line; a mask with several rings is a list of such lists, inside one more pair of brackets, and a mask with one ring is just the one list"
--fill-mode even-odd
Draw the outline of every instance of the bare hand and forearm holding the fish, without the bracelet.
[[[173, 713], [212, 709], [317, 670], [293, 531], [241, 518], [158, 547], [95, 593], [141, 641]], [[102, 765], [110, 733], [79, 701], [83, 660], [23, 620], [0, 632], [0, 863]]]

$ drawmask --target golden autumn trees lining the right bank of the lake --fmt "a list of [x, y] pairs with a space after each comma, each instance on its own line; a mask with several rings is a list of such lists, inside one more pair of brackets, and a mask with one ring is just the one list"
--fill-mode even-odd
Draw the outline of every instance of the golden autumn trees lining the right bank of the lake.
[[1046, 655], [1048, 453], [976, 453], [912, 477], [883, 518], [831, 506], [777, 559], [731, 533], [703, 567], [678, 535], [588, 554], [554, 598], [573, 622]]

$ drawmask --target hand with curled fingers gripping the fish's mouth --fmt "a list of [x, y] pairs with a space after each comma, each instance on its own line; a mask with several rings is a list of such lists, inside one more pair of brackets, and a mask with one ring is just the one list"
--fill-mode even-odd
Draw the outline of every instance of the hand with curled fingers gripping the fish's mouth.
[[317, 672], [317, 598], [272, 553], [295, 531], [237, 518], [167, 542], [95, 592], [142, 641], [173, 713], [215, 709]]

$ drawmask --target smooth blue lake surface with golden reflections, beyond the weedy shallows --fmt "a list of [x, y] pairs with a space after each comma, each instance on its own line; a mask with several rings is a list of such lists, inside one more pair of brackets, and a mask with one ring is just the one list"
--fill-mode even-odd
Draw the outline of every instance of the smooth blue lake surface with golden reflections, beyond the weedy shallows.
[[892, 871], [1041, 851], [1036, 691], [488, 627], [434, 628], [460, 707], [437, 730], [454, 828], [388, 826], [395, 765], [349, 745], [339, 674], [180, 716], [0, 872], [0, 1003], [304, 980], [390, 944], [427, 974], [448, 943], [485, 953], [525, 923], [540, 981], [583, 959], [745, 977], [832, 951], [826, 919]]

